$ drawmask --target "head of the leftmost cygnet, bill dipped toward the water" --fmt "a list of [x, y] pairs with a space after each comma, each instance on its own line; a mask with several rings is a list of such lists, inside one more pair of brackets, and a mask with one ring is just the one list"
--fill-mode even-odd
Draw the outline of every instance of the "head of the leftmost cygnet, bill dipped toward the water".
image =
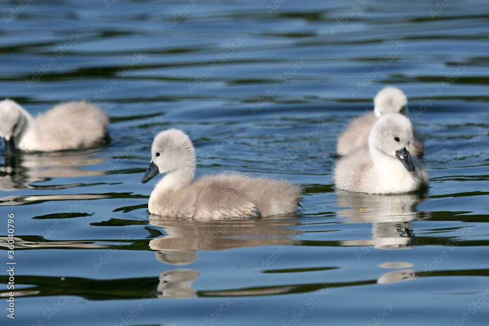
[[15, 142], [20, 138], [25, 124], [20, 105], [9, 99], [0, 102], [0, 136], [5, 139], [8, 154], [15, 153]]

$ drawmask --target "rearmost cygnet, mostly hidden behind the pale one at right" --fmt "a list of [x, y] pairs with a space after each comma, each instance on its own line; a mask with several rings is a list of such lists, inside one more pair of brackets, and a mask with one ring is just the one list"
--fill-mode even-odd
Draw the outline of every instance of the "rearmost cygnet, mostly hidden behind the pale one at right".
[[[369, 132], [377, 119], [384, 113], [397, 112], [407, 116], [407, 97], [396, 87], [381, 89], [374, 98], [374, 111], [354, 118], [348, 128], [338, 137], [336, 152], [347, 155], [357, 148], [367, 145]], [[409, 146], [411, 155], [421, 157], [423, 141], [420, 133], [413, 128], [413, 140]]]

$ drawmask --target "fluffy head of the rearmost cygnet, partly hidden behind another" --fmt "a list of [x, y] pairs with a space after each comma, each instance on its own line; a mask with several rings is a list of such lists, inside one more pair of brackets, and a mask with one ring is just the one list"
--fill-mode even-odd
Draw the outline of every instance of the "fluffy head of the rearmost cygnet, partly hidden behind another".
[[399, 88], [385, 87], [375, 96], [374, 114], [376, 118], [387, 112], [407, 115], [407, 97]]

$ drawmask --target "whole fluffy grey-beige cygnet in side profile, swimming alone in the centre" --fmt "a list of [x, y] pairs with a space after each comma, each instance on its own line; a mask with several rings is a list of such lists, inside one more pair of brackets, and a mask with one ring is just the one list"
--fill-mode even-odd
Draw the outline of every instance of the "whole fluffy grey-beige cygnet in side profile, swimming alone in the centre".
[[152, 214], [194, 219], [253, 218], [294, 213], [302, 199], [301, 187], [267, 177], [225, 173], [193, 181], [195, 150], [182, 130], [159, 132], [151, 155], [142, 183], [166, 173], [151, 193], [148, 208]]

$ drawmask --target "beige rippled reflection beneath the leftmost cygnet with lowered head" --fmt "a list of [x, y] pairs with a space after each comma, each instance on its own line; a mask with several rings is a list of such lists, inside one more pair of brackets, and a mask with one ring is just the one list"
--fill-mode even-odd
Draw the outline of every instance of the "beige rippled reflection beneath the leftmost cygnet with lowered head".
[[[64, 152], [18, 153], [5, 157], [1, 167], [0, 190], [15, 191], [36, 188], [31, 184], [61, 177], [83, 177], [108, 174], [105, 171], [85, 170], [84, 167], [104, 163], [99, 149]], [[44, 189], [63, 189], [76, 185], [42, 186]]]

